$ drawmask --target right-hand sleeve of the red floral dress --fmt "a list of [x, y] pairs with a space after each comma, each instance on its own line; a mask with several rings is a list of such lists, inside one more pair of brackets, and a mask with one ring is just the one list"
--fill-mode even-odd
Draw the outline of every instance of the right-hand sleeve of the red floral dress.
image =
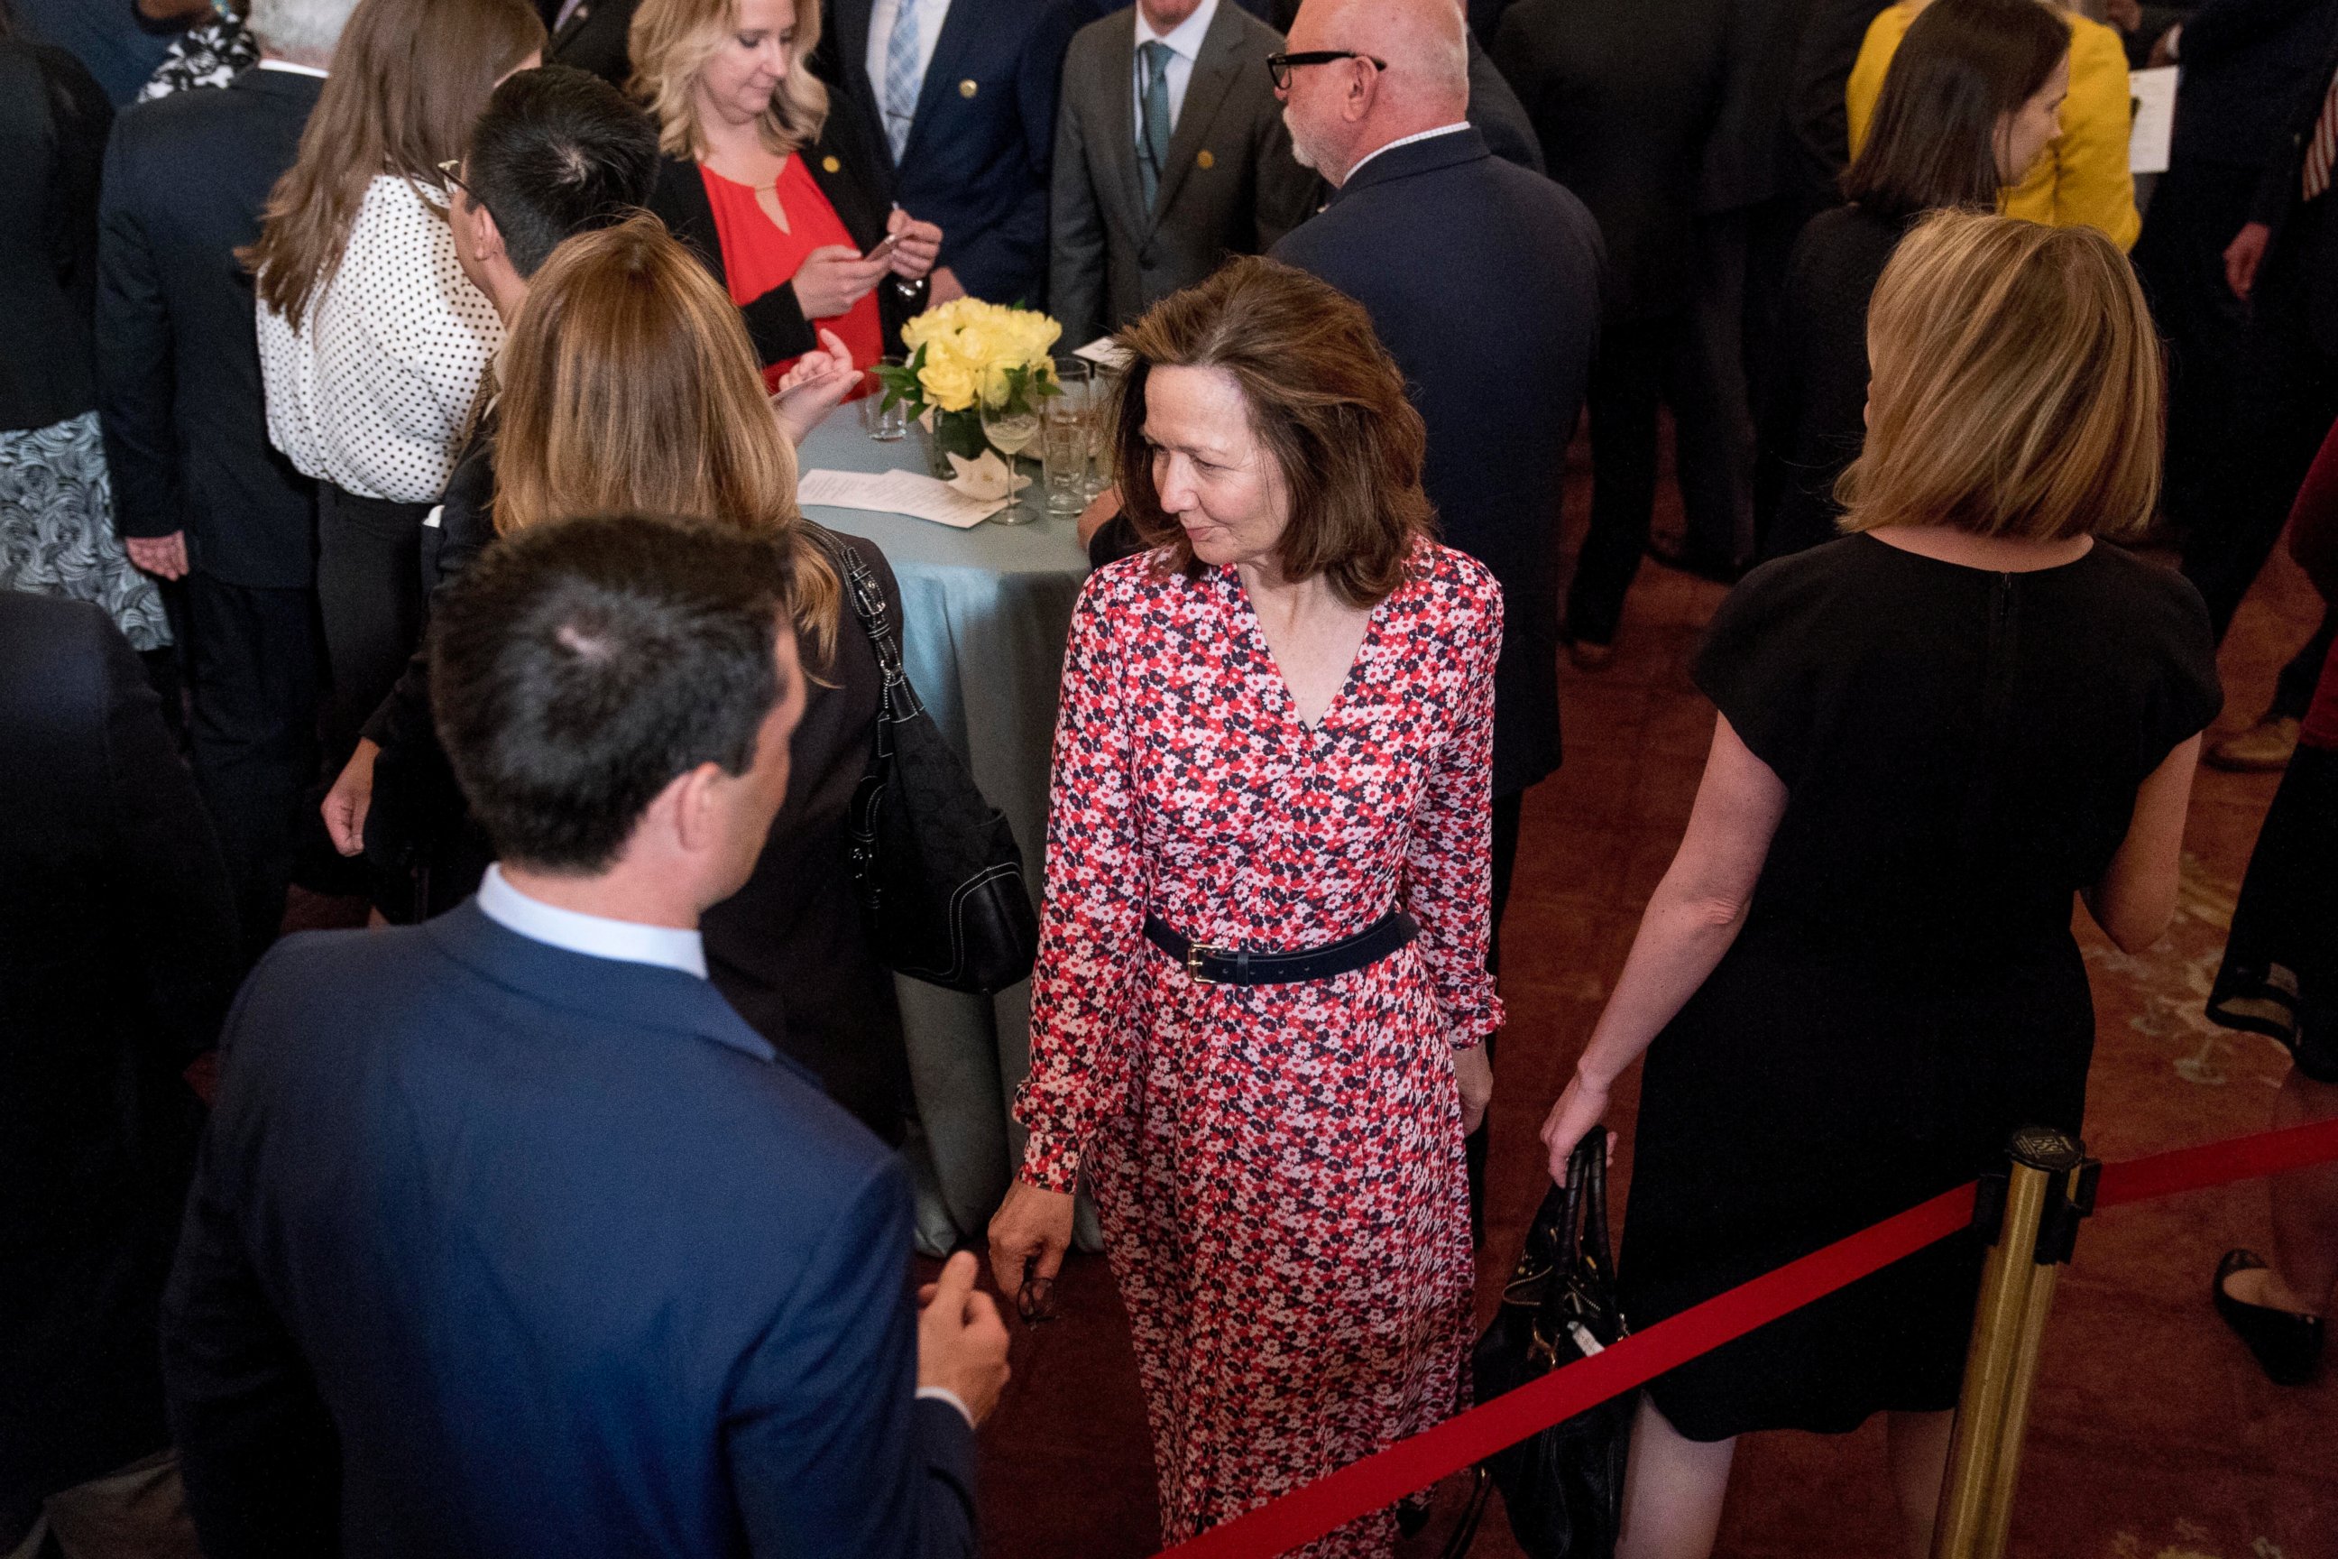
[[1482, 1045], [1501, 1028], [1501, 1000], [1485, 968], [1492, 928], [1492, 806], [1494, 806], [1494, 659], [1501, 654], [1501, 587], [1459, 554], [1461, 580], [1445, 615], [1450, 654], [1445, 683], [1452, 727], [1412, 809], [1405, 848], [1407, 909], [1419, 921], [1422, 961], [1445, 1007], [1454, 1049]]

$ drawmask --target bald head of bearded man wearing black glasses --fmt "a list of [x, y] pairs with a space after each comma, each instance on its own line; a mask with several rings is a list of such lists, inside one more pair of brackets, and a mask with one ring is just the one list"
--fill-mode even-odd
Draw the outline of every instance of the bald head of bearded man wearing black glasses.
[[1284, 47], [1365, 56], [1300, 65], [1284, 91], [1298, 159], [1335, 185], [1391, 140], [1468, 117], [1468, 33], [1457, 0], [1305, 0]]

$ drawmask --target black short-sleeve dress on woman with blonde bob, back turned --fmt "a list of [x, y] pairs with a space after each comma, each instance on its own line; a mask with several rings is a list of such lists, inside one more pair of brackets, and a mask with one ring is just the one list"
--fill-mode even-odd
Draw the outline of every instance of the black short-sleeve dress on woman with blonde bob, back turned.
[[[2095, 1012], [2071, 895], [2216, 718], [2198, 591], [2118, 547], [1990, 573], [1852, 535], [1730, 591], [1697, 685], [1786, 783], [1744, 930], [1648, 1049], [1634, 1328], [2078, 1131]], [[1957, 1405], [1955, 1236], [1651, 1391], [1693, 1440]]]

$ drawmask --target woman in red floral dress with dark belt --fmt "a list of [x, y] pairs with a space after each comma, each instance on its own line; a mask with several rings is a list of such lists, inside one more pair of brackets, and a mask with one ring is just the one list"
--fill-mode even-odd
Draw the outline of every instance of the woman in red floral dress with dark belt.
[[1085, 1169], [1178, 1540], [1464, 1400], [1501, 589], [1358, 304], [1239, 259], [1120, 344], [1155, 549], [1073, 612], [991, 1269], [1043, 1304]]

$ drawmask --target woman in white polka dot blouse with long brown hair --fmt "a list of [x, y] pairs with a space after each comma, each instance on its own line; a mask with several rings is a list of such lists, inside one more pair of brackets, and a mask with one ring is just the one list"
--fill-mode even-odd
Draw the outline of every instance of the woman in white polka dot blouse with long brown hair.
[[493, 304], [456, 264], [440, 164], [542, 44], [528, 0], [365, 0], [243, 252], [269, 439], [318, 481], [334, 767], [421, 633], [421, 524], [503, 346]]

